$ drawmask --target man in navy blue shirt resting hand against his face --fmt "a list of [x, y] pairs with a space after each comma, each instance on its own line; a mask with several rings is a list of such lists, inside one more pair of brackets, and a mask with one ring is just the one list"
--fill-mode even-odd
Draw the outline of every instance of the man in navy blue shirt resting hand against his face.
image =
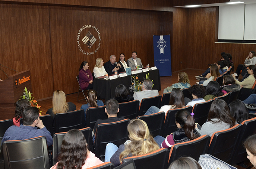
[[[25, 140], [34, 137], [45, 136], [47, 145], [53, 145], [53, 137], [39, 118], [39, 110], [36, 107], [28, 107], [23, 113], [23, 124], [11, 126], [4, 133], [2, 144], [7, 140]], [[39, 127], [40, 129], [37, 129]]]

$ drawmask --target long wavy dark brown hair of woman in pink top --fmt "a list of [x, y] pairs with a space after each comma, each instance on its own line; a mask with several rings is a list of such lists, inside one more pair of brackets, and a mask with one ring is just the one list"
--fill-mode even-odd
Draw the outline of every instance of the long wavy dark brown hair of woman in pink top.
[[78, 129], [69, 130], [61, 144], [60, 162], [57, 165], [57, 169], [82, 168], [85, 164], [87, 153], [87, 143], [83, 133]]

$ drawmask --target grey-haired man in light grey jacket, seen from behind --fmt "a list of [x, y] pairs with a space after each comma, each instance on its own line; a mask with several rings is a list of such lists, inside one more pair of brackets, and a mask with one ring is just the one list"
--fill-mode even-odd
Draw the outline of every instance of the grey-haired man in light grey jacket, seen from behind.
[[134, 100], [141, 101], [143, 98], [158, 96], [159, 95], [158, 90], [152, 90], [152, 87], [153, 87], [152, 81], [148, 79], [144, 80], [142, 84], [142, 91], [137, 91], [134, 93], [133, 95]]

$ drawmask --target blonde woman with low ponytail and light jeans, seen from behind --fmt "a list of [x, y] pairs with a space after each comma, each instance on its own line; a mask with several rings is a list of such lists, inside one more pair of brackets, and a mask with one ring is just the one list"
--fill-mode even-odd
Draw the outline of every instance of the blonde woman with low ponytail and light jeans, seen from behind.
[[145, 155], [159, 149], [145, 121], [133, 119], [128, 124], [127, 130], [130, 140], [121, 144], [119, 148], [113, 143], [107, 144], [105, 162], [110, 161], [118, 166], [126, 157]]

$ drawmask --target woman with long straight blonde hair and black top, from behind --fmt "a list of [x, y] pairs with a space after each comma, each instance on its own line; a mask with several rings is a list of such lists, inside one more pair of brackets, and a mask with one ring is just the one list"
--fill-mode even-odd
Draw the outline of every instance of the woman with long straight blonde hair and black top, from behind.
[[56, 90], [53, 92], [53, 107], [48, 109], [46, 114], [51, 115], [54, 125], [56, 113], [64, 113], [74, 110], [76, 110], [76, 105], [72, 102], [67, 103], [65, 93], [61, 90]]

